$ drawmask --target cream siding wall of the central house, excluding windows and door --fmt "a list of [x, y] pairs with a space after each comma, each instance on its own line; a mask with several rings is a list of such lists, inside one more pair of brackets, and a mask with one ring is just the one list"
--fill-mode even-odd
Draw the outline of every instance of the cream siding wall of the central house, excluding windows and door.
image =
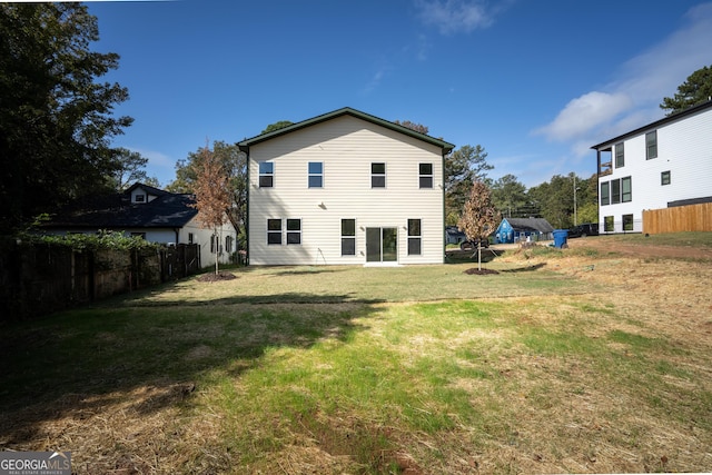
[[[249, 259], [255, 265], [365, 264], [366, 228], [397, 227], [398, 263], [442, 263], [443, 161], [438, 147], [342, 116], [250, 147]], [[274, 161], [274, 187], [259, 188], [259, 162]], [[308, 188], [309, 161], [324, 187]], [[386, 188], [372, 189], [370, 164], [386, 164]], [[418, 164], [433, 165], [419, 189]], [[301, 219], [301, 245], [267, 245], [267, 219]], [[407, 255], [407, 220], [422, 220], [422, 255]], [[356, 256], [342, 256], [342, 219], [356, 219]]]

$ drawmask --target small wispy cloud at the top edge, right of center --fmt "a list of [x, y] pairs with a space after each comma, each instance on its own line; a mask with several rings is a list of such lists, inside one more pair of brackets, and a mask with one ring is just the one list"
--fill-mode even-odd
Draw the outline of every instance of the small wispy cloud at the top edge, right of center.
[[467, 33], [494, 21], [494, 11], [481, 0], [416, 0], [415, 6], [421, 20], [443, 34]]

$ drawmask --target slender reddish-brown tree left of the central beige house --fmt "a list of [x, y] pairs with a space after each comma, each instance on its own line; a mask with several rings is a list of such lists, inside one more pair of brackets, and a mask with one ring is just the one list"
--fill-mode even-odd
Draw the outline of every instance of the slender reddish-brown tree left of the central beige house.
[[212, 229], [212, 239], [217, 243], [215, 248], [215, 274], [218, 274], [218, 257], [220, 255], [220, 231], [222, 225], [228, 222], [228, 210], [231, 205], [231, 196], [227, 172], [221, 161], [208, 148], [200, 150], [201, 160], [195, 165], [196, 181], [192, 192], [198, 209], [198, 221], [202, 228]]

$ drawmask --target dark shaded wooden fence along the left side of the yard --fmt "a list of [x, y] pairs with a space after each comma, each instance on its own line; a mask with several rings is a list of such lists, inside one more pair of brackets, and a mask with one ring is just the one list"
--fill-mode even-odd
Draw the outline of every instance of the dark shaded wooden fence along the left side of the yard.
[[199, 254], [197, 245], [83, 251], [6, 245], [0, 249], [0, 320], [49, 314], [196, 274]]

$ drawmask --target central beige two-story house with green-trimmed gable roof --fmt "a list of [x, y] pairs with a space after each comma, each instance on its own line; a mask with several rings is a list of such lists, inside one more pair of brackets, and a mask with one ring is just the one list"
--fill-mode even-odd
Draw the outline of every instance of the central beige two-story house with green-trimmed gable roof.
[[452, 144], [344, 108], [238, 145], [248, 156], [250, 264], [444, 261]]

